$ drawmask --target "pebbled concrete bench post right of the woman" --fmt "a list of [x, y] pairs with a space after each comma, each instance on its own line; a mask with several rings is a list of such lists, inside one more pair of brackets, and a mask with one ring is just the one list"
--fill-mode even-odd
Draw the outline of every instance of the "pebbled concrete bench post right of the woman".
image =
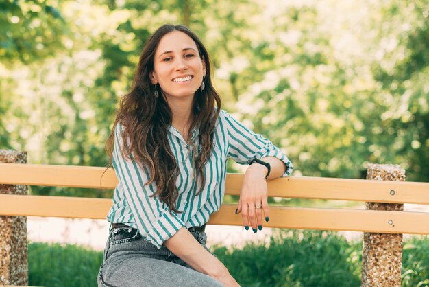
[[[367, 179], [405, 181], [405, 170], [399, 165], [369, 164]], [[404, 211], [404, 205], [367, 203], [367, 209]], [[361, 286], [400, 287], [401, 268], [402, 234], [364, 233]]]

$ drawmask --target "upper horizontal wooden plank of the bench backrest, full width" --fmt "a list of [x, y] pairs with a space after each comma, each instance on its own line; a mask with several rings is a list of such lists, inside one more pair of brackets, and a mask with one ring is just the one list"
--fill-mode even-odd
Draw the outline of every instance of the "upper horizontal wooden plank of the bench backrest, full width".
[[[104, 170], [75, 165], [0, 163], [0, 183], [112, 189], [118, 183], [116, 175], [109, 168], [102, 176]], [[228, 174], [226, 194], [240, 194], [242, 182], [243, 174]], [[268, 187], [271, 197], [429, 204], [429, 183], [289, 176], [268, 181]]]

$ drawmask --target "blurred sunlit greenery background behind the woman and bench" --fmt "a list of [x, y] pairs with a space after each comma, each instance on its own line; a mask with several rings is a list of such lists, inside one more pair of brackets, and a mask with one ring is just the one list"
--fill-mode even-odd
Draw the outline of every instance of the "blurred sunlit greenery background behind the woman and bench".
[[[190, 27], [208, 48], [222, 108], [282, 148], [294, 176], [360, 179], [367, 163], [393, 163], [408, 181], [428, 182], [428, 16], [427, 0], [3, 0], [0, 149], [25, 150], [29, 163], [106, 166], [104, 143], [140, 51], [160, 25], [174, 23]], [[57, 187], [31, 192], [112, 196]], [[317, 202], [325, 204], [341, 206]], [[80, 244], [103, 248], [105, 220], [36, 225], [43, 220], [29, 218], [30, 240], [60, 241], [72, 233]], [[97, 243], [94, 225], [103, 225]], [[40, 236], [54, 229], [62, 234]], [[82, 239], [76, 230], [90, 236]], [[219, 236], [221, 230], [208, 231]], [[264, 242], [228, 251], [228, 244], [248, 240], [243, 233], [218, 238], [224, 246], [215, 253], [243, 286], [359, 286], [361, 243], [350, 241], [356, 234], [347, 241], [336, 233], [296, 231], [273, 241], [271, 231], [264, 232], [271, 251]], [[80, 247], [63, 247], [29, 244], [30, 284], [95, 284], [100, 251], [84, 250], [71, 260]], [[428, 250], [427, 238], [406, 243], [403, 286], [429, 285]], [[82, 262], [92, 265], [85, 269]], [[291, 284], [284, 285], [285, 278]]]

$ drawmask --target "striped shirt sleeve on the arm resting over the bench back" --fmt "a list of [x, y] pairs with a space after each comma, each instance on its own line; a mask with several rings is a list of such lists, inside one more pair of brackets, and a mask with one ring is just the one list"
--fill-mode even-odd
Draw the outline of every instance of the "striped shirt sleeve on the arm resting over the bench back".
[[249, 164], [254, 158], [276, 157], [286, 164], [286, 171], [281, 177], [292, 173], [293, 165], [288, 157], [273, 145], [271, 141], [254, 133], [234, 119], [230, 114], [222, 111], [225, 115], [228, 130], [228, 156], [237, 163]]

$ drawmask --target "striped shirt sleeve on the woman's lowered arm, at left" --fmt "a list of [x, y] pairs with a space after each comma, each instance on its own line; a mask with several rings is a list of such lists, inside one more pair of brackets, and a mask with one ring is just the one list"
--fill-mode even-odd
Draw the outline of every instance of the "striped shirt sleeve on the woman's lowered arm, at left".
[[[171, 238], [185, 226], [182, 219], [173, 211], [169, 212], [167, 204], [158, 196], [151, 197], [156, 191], [156, 184], [145, 185], [149, 181], [149, 171], [134, 160], [125, 159], [121, 152], [123, 147], [123, 127], [120, 124], [114, 130], [114, 150], [112, 165], [119, 183], [123, 187], [125, 199], [130, 206], [140, 234], [158, 249], [164, 241]], [[129, 140], [127, 141], [129, 144]], [[133, 159], [131, 154], [131, 159]]]

